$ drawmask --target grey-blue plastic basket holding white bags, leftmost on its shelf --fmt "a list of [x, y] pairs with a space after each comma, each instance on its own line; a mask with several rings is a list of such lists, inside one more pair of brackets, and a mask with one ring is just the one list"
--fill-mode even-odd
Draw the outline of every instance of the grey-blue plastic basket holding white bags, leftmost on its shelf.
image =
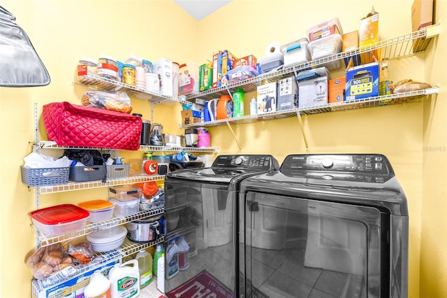
[[43, 186], [68, 183], [70, 167], [34, 169], [20, 166], [22, 183], [28, 186]]

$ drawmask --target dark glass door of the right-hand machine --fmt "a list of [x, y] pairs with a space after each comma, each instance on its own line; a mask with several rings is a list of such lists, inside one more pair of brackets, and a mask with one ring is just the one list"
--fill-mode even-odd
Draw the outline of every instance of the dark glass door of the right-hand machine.
[[258, 192], [244, 205], [246, 297], [380, 297], [377, 208]]

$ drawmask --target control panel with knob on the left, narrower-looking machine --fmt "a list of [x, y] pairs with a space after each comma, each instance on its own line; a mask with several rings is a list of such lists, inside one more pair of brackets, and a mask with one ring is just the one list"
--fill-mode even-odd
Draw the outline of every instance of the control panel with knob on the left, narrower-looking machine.
[[272, 155], [219, 155], [212, 167], [278, 170], [279, 163]]

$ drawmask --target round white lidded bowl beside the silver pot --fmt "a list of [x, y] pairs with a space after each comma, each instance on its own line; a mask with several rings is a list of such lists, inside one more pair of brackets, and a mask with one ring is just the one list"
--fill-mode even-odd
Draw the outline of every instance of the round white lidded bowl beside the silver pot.
[[91, 244], [91, 248], [98, 253], [114, 250], [124, 243], [126, 239], [127, 229], [122, 225], [101, 229], [87, 235], [87, 241]]

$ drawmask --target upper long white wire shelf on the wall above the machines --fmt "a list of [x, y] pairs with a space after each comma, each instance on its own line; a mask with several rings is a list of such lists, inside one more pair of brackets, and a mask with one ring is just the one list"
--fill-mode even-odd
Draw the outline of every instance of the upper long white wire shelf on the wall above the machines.
[[416, 55], [424, 52], [432, 38], [439, 35], [439, 28], [439, 24], [434, 24], [418, 31], [413, 31], [409, 34], [390, 38], [385, 41], [378, 41], [376, 43], [372, 43], [371, 45], [365, 45], [349, 52], [340, 52], [334, 55], [328, 55], [310, 62], [288, 66], [277, 71], [262, 73], [260, 76], [256, 76], [255, 78], [241, 80], [237, 83], [231, 83], [223, 87], [212, 88], [203, 92], [189, 94], [186, 96], [186, 99], [216, 99], [221, 97], [221, 95], [233, 94], [237, 88], [242, 88], [245, 93], [254, 92], [257, 90], [258, 85], [261, 85], [263, 80], [268, 80], [270, 83], [276, 82], [287, 76], [296, 76], [299, 71], [309, 69], [311, 67], [322, 66], [323, 64], [330, 64], [331, 62], [340, 62], [340, 70], [342, 70], [345, 67], [344, 59], [349, 59], [349, 57], [356, 55], [367, 54], [374, 50], [378, 50], [376, 51], [376, 54], [379, 55], [379, 57], [376, 57], [378, 60], [385, 57], [388, 59], [400, 59], [402, 57]]

